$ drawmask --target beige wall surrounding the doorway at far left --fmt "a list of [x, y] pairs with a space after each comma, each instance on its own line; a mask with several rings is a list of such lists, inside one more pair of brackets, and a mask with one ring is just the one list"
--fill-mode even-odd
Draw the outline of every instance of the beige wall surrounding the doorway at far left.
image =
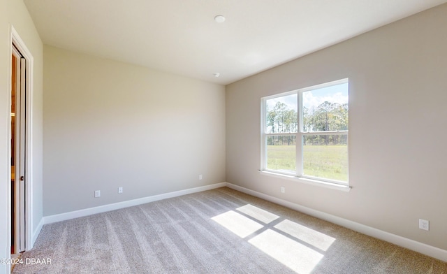
[[[34, 57], [34, 86], [31, 102], [31, 142], [33, 150], [31, 182], [32, 200], [32, 232], [35, 232], [42, 219], [42, 127], [43, 127], [43, 45], [27, 8], [22, 1], [0, 0], [0, 258], [8, 258], [10, 253], [10, 181], [9, 181], [9, 78], [10, 78], [10, 25], [24, 41]], [[0, 273], [7, 273], [8, 267], [0, 265]]]

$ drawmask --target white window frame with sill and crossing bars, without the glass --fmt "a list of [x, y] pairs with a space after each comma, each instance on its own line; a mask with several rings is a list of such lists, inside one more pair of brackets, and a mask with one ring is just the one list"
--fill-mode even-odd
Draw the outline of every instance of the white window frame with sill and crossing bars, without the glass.
[[[284, 92], [280, 94], [274, 94], [271, 96], [265, 96], [261, 98], [261, 173], [264, 175], [271, 175], [279, 178], [286, 178], [289, 180], [298, 180], [300, 182], [309, 183], [312, 185], [322, 185], [325, 187], [335, 188], [335, 189], [344, 189], [349, 191], [349, 178], [344, 181], [339, 180], [331, 180], [328, 178], [318, 178], [309, 175], [302, 174], [302, 166], [303, 166], [303, 152], [302, 152], [302, 138], [304, 136], [309, 135], [344, 135], [348, 137], [348, 151], [349, 151], [349, 130], [344, 131], [303, 131], [302, 124], [302, 94], [303, 92], [309, 92], [314, 89], [321, 89], [323, 87], [330, 87], [333, 85], [340, 85], [344, 83], [349, 83], [349, 79], [341, 79], [335, 80], [332, 82], [326, 82], [321, 85], [314, 85], [312, 87], [305, 87], [302, 89], [295, 89], [291, 92]], [[291, 94], [297, 94], [298, 98], [298, 131], [296, 133], [266, 133], [265, 129], [267, 128], [267, 101], [269, 99], [274, 99], [282, 96], [288, 96]], [[295, 136], [296, 138], [296, 171], [295, 173], [286, 173], [276, 170], [271, 170], [267, 168], [267, 138], [268, 136]], [[349, 159], [348, 159], [349, 166]], [[349, 174], [348, 174], [349, 175]]]

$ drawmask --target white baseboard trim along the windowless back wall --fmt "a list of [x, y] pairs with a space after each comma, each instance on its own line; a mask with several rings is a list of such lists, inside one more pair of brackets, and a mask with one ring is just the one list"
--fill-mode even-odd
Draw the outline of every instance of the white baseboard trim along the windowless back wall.
[[[61, 213], [61, 214], [57, 214], [57, 215], [45, 216], [45, 217], [43, 217], [43, 224], [51, 224], [54, 222], [65, 221], [67, 219], [85, 217], [85, 216], [94, 215], [97, 213], [107, 212], [107, 211], [111, 211], [111, 210], [117, 210], [117, 209], [121, 209], [121, 208], [129, 208], [131, 206], [139, 206], [139, 205], [142, 205], [143, 203], [150, 203], [153, 201], [160, 201], [163, 199], [174, 198], [174, 197], [182, 196], [182, 195], [186, 195], [186, 194], [203, 192], [205, 190], [217, 189], [219, 187], [226, 187], [226, 182], [219, 182], [217, 184], [205, 185], [203, 187], [193, 187], [191, 189], [183, 189], [183, 190], [179, 190], [177, 192], [168, 192], [168, 193], [154, 195], [154, 196], [147, 196], [147, 197], [140, 198], [140, 199], [122, 201], [119, 203], [110, 203], [109, 205], [104, 205], [104, 206], [96, 206], [94, 208], [86, 208], [86, 209], [82, 209], [82, 210], [65, 212], [65, 213]], [[34, 236], [34, 237], [37, 238], [37, 236]]]

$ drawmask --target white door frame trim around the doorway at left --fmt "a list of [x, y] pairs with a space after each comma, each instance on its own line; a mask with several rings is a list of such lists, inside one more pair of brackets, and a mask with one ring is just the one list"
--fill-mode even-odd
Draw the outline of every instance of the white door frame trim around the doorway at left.
[[[26, 64], [25, 64], [25, 71], [26, 71], [26, 75], [25, 75], [25, 163], [24, 163], [24, 168], [25, 168], [25, 198], [24, 198], [24, 210], [25, 210], [25, 214], [24, 214], [24, 229], [25, 229], [25, 245], [24, 248], [25, 250], [31, 250], [32, 246], [34, 243], [32, 243], [32, 233], [33, 233], [33, 212], [32, 212], [32, 205], [33, 205], [33, 75], [34, 75], [34, 57], [33, 55], [31, 55], [31, 52], [28, 50], [27, 46], [25, 45], [24, 41], [22, 40], [22, 38], [20, 38], [19, 34], [17, 33], [17, 31], [15, 30], [15, 28], [10, 25], [10, 41], [9, 41], [9, 54], [8, 56], [11, 57], [13, 55], [13, 45], [15, 46], [15, 48], [17, 48], [17, 50], [20, 52], [20, 54], [24, 57], [24, 59], [26, 60]], [[9, 58], [8, 61], [8, 73], [10, 73], [9, 77], [8, 77], [8, 81], [9, 81], [9, 90], [8, 90], [8, 106], [10, 106], [10, 99], [11, 99], [11, 89], [12, 89], [12, 85], [13, 82], [11, 81], [12, 78], [12, 60]], [[10, 111], [9, 111], [10, 113]], [[8, 124], [8, 135], [9, 135], [9, 140], [11, 138], [10, 136], [10, 123], [11, 123], [11, 118], [10, 118], [10, 114], [8, 113], [9, 116], [9, 124]], [[9, 152], [9, 159], [11, 157], [11, 146], [10, 146], [10, 142], [8, 142], [8, 152]], [[10, 166], [10, 161], [8, 161], [8, 182], [10, 182], [11, 178], [11, 166]], [[10, 189], [10, 183], [8, 184], [9, 187], [9, 193], [11, 193]], [[10, 194], [8, 195], [8, 208], [9, 208], [9, 212], [11, 212], [12, 208], [11, 208], [11, 201], [10, 201]], [[10, 235], [11, 233], [13, 233], [13, 231], [11, 231], [11, 219], [10, 219], [10, 213], [9, 213], [9, 218], [8, 218], [8, 231], [9, 231], [9, 239], [8, 242], [10, 243]], [[13, 243], [10, 243], [10, 245], [12, 245]]]

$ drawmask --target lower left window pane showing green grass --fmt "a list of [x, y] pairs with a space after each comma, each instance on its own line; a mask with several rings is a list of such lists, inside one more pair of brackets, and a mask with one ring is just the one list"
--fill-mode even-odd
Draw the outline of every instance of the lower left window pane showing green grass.
[[296, 136], [267, 137], [267, 169], [296, 173]]

